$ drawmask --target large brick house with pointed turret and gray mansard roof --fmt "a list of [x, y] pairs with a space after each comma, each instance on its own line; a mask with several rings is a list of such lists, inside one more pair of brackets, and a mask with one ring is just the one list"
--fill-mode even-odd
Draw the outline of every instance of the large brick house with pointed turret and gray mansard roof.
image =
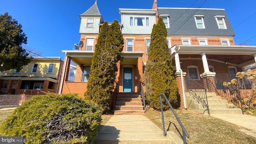
[[[235, 45], [235, 33], [224, 9], [158, 8], [157, 0], [154, 0], [151, 9], [119, 8], [119, 13], [124, 37], [124, 60], [118, 63], [116, 77], [116, 90], [121, 95], [119, 98], [124, 93], [141, 93], [140, 78], [148, 60], [150, 35], [159, 16], [163, 18], [168, 31], [167, 42], [179, 86], [181, 108], [186, 108], [186, 82], [182, 85], [185, 76], [199, 84], [205, 83], [203, 78], [210, 78], [217, 86], [218, 82], [214, 78], [218, 74], [226, 73], [230, 77], [238, 71], [244, 71], [244, 66], [256, 62], [256, 46]], [[74, 92], [83, 96], [94, 46], [104, 21], [97, 1], [79, 16], [80, 40], [84, 42], [84, 46], [79, 50], [62, 50], [66, 56], [60, 93]], [[70, 60], [77, 64], [74, 82], [67, 80]], [[113, 101], [118, 101], [118, 98]], [[120, 108], [116, 106], [116, 111], [118, 110]]]

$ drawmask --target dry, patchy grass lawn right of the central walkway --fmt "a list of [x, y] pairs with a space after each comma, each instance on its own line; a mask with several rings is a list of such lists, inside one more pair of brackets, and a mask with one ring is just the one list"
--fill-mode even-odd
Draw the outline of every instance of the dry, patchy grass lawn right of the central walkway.
[[[256, 144], [256, 138], [240, 132], [236, 126], [224, 120], [192, 110], [175, 110], [190, 138], [188, 144]], [[162, 129], [161, 111], [148, 108], [145, 116]], [[182, 138], [182, 129], [171, 110], [164, 112], [165, 130]]]

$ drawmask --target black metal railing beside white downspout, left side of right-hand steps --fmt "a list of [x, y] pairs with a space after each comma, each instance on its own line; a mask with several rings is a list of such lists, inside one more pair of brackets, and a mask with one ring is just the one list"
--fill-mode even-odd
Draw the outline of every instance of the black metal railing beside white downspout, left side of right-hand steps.
[[203, 108], [208, 110], [208, 114], [210, 115], [209, 105], [206, 95], [206, 88], [200, 84], [198, 84], [195, 80], [192, 80], [188, 76], [185, 76], [186, 83], [186, 92], [193, 96], [195, 100], [199, 104], [202, 104]]

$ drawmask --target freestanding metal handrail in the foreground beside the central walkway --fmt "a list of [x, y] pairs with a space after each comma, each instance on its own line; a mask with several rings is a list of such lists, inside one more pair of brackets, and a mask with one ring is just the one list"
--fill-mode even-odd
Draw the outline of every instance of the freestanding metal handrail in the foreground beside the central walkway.
[[163, 110], [163, 104], [162, 104], [162, 96], [164, 96], [164, 99], [166, 100], [167, 104], [169, 105], [170, 109], [172, 110], [172, 113], [174, 114], [176, 120], [178, 121], [178, 123], [180, 124], [180, 127], [182, 128], [182, 139], [183, 139], [183, 143], [186, 144], [186, 137], [189, 138], [188, 132], [186, 131], [186, 129], [184, 128], [182, 122], [180, 121], [180, 118], [177, 116], [176, 112], [174, 111], [174, 109], [172, 108], [172, 105], [170, 104], [169, 100], [166, 98], [165, 94], [158, 94], [158, 96], [160, 96], [160, 104], [161, 104], [161, 112], [162, 112], [162, 123], [163, 123], [163, 132], [164, 132], [164, 136], [166, 136], [166, 132], [165, 132], [165, 127], [164, 127], [164, 110]]

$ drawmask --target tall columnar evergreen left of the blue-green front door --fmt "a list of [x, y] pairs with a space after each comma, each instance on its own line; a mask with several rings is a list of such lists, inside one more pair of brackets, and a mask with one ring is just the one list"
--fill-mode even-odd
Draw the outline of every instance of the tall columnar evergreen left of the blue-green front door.
[[118, 21], [111, 26], [104, 22], [95, 46], [87, 92], [84, 96], [100, 105], [104, 112], [110, 110], [117, 62], [122, 59], [124, 40]]

